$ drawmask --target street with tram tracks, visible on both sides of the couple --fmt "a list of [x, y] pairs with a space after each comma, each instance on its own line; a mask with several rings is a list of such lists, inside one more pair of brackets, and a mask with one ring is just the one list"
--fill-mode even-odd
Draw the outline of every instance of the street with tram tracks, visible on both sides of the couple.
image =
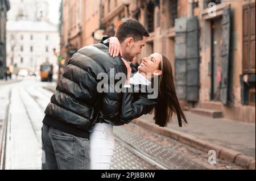
[[[0, 84], [0, 119], [8, 120], [5, 169], [40, 169], [42, 119], [52, 95], [44, 88], [53, 86], [35, 77]], [[207, 153], [135, 124], [115, 127], [114, 133], [112, 169], [242, 169], [220, 159], [210, 165]]]

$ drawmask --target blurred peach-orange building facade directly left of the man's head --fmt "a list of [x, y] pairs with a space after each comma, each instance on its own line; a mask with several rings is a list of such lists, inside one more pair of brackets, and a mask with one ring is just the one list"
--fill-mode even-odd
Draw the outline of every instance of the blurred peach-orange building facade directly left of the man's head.
[[60, 54], [66, 63], [76, 50], [98, 42], [92, 33], [100, 27], [99, 9], [100, 1], [61, 1]]

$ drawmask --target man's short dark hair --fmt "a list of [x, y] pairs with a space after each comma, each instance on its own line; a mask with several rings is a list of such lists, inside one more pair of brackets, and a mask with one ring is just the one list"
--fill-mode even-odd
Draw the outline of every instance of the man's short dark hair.
[[150, 36], [146, 28], [136, 19], [128, 19], [117, 28], [115, 37], [122, 43], [127, 37], [133, 37], [134, 41], [143, 40], [143, 36]]

